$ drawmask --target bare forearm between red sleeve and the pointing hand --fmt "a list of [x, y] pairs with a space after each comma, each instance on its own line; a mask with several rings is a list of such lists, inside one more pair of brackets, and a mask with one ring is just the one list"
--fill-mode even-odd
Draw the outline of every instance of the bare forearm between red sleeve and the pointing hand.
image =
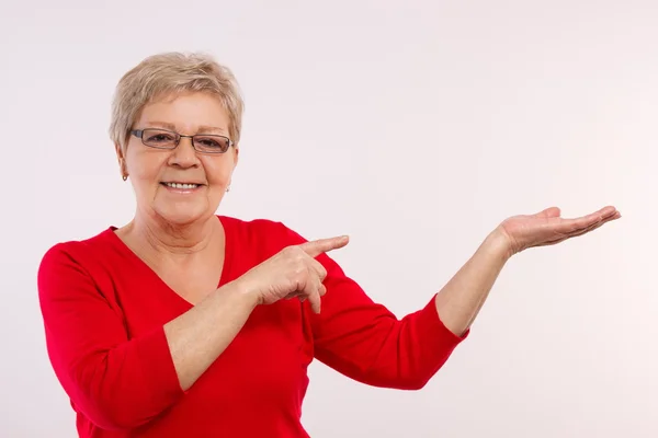
[[190, 389], [242, 328], [257, 300], [238, 283], [229, 283], [164, 325], [183, 390]]

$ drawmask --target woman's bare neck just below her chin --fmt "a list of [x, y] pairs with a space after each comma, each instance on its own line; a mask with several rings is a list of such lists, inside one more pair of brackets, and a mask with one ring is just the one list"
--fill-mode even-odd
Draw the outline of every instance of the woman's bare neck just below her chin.
[[222, 224], [215, 215], [184, 224], [172, 224], [160, 217], [135, 215], [124, 228], [138, 246], [168, 255], [188, 255], [205, 250], [216, 239], [220, 239]]

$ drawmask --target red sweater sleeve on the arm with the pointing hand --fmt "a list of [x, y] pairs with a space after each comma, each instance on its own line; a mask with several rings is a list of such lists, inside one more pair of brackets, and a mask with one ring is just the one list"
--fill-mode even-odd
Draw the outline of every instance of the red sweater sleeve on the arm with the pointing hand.
[[50, 249], [37, 276], [55, 373], [75, 408], [98, 426], [146, 424], [183, 395], [163, 327], [128, 338], [116, 303], [82, 266], [81, 252], [69, 250]]

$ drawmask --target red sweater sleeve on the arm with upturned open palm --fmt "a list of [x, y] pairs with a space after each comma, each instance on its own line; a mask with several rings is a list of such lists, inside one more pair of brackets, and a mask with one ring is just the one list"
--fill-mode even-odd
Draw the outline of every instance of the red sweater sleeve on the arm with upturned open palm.
[[[287, 230], [291, 244], [305, 242]], [[314, 336], [315, 357], [356, 381], [383, 388], [418, 390], [439, 371], [468, 332], [445, 327], [434, 297], [421, 310], [398, 319], [364, 290], [327, 254], [320, 314], [304, 303]]]

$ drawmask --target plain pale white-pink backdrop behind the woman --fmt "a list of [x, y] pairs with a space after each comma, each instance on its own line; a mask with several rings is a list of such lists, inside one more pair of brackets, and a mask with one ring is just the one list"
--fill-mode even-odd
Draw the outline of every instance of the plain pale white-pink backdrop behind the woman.
[[314, 362], [314, 438], [658, 436], [656, 1], [3, 1], [0, 49], [0, 436], [75, 436], [36, 269], [132, 218], [110, 102], [168, 50], [243, 90], [218, 211], [350, 234], [334, 258], [398, 316], [509, 216], [623, 214], [513, 257], [422, 391]]

